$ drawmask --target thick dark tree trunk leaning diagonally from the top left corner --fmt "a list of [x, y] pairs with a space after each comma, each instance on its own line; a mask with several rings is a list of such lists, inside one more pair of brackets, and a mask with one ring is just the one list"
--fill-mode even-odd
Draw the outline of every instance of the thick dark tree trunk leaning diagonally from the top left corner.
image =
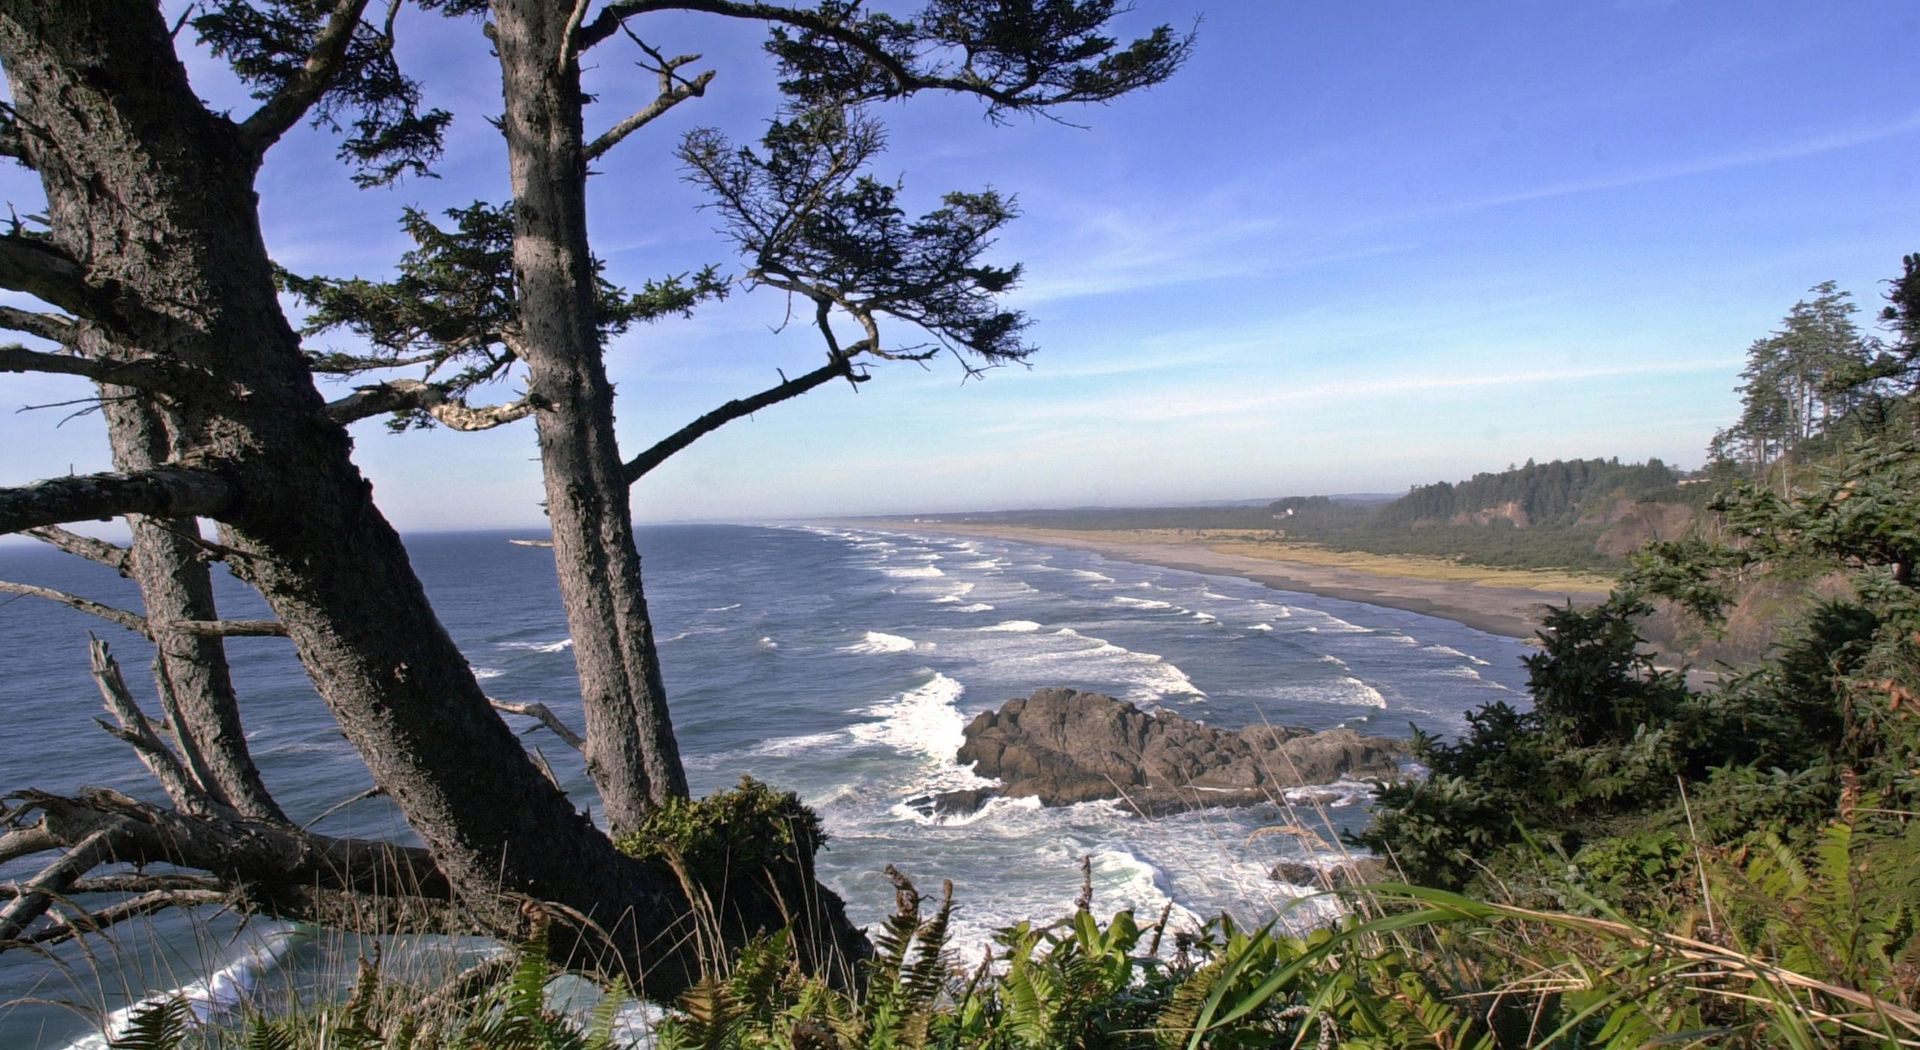
[[557, 944], [576, 962], [599, 954], [653, 992], [689, 981], [680, 887], [614, 850], [490, 710], [326, 418], [257, 228], [265, 146], [200, 106], [154, 4], [0, 0], [0, 61], [52, 244], [79, 263], [69, 298], [111, 346], [205, 376], [173, 397], [169, 468], [228, 493], [215, 516], [234, 570], [465, 912], [516, 935], [524, 902], [561, 902], [611, 935]]

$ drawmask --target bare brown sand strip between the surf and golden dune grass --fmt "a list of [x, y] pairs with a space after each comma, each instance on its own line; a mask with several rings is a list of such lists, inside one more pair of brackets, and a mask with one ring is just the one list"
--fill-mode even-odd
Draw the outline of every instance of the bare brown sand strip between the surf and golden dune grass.
[[881, 528], [925, 532], [937, 536], [983, 536], [1094, 551], [1117, 561], [1200, 572], [1206, 576], [1236, 576], [1277, 591], [1309, 593], [1340, 601], [1357, 601], [1453, 620], [1469, 628], [1505, 637], [1532, 639], [1540, 612], [1548, 607], [1596, 605], [1601, 595], [1580, 589], [1494, 587], [1467, 580], [1430, 580], [1421, 576], [1392, 576], [1346, 566], [1286, 561], [1281, 557], [1250, 557], [1219, 551], [1202, 539], [1164, 541], [1129, 532], [1112, 536], [1098, 532], [1069, 532], [1031, 526], [989, 526], [958, 522], [914, 522], [906, 518], [839, 520], [849, 528]]

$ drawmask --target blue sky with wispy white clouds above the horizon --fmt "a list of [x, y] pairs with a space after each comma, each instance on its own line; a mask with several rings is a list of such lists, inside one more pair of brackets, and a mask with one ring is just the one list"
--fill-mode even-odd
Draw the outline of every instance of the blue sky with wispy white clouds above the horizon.
[[[1905, 0], [1139, 8], [1129, 29], [1204, 15], [1192, 61], [1062, 113], [1087, 127], [996, 129], [954, 98], [877, 111], [891, 150], [876, 169], [904, 179], [910, 207], [952, 188], [1018, 196], [996, 257], [1027, 267], [1012, 301], [1037, 321], [1031, 369], [962, 382], [952, 363], [887, 365], [858, 392], [822, 388], [645, 478], [641, 520], [1396, 491], [1528, 457], [1692, 466], [1736, 413], [1753, 338], [1828, 278], [1874, 313], [1920, 250], [1920, 6]], [[388, 273], [403, 205], [505, 198], [478, 25], [401, 29], [428, 100], [459, 117], [440, 179], [355, 190], [326, 134], [290, 136], [261, 205], [296, 271]], [[718, 77], [597, 165], [597, 253], [626, 284], [737, 273], [670, 152], [689, 127], [758, 134], [778, 104], [758, 35], [678, 15], [637, 29]], [[651, 98], [624, 48], [593, 54], [589, 134]], [[190, 69], [244, 107], [217, 63]], [[0, 190], [36, 205], [19, 173]], [[783, 315], [760, 292], [616, 340], [626, 447], [814, 367], [818, 338], [778, 330]], [[6, 409], [84, 394], [0, 382]], [[108, 466], [98, 422], [61, 415], [0, 415], [4, 484]], [[530, 422], [355, 434], [401, 528], [540, 520]]]

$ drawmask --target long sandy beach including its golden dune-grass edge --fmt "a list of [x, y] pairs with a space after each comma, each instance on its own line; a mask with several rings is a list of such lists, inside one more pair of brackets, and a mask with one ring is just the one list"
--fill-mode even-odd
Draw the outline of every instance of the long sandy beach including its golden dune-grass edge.
[[1069, 532], [964, 522], [862, 520], [858, 528], [900, 528], [945, 536], [991, 536], [1020, 543], [1098, 551], [1112, 559], [1238, 576], [1283, 591], [1384, 605], [1440, 616], [1507, 637], [1532, 637], [1544, 607], [1594, 605], [1605, 578], [1469, 568], [1434, 559], [1340, 555], [1260, 543], [1233, 534], [1177, 530]]

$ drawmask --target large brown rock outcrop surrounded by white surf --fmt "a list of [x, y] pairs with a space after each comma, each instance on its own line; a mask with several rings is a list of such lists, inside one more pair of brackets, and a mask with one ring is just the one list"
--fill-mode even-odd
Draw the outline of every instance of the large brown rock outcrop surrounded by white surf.
[[[1215, 729], [1100, 693], [1041, 689], [973, 718], [958, 760], [998, 777], [998, 795], [1037, 797], [1046, 806], [1123, 799], [1164, 814], [1250, 806], [1340, 777], [1394, 776], [1404, 754], [1402, 741], [1352, 729]], [[983, 800], [960, 795], [937, 795], [935, 808], [968, 812]]]

